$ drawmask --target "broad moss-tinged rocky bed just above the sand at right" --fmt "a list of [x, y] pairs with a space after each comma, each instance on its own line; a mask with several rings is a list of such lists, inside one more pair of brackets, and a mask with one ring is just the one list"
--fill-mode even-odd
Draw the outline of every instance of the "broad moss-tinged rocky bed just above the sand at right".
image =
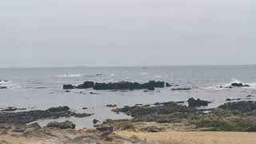
[[[256, 131], [256, 102], [230, 102], [215, 109], [197, 109], [177, 102], [124, 106], [113, 110], [131, 115], [129, 122], [187, 123], [197, 130]], [[115, 121], [108, 121], [114, 125]], [[105, 124], [109, 124], [105, 122]], [[120, 120], [118, 121], [120, 122]], [[104, 123], [104, 122], [103, 122]]]

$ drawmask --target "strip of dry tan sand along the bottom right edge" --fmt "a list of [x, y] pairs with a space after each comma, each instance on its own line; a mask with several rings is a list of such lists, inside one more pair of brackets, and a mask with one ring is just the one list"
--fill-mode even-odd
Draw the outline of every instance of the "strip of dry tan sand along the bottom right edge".
[[235, 132], [159, 132], [136, 133], [118, 131], [122, 137], [136, 135], [161, 144], [256, 144], [256, 133]]

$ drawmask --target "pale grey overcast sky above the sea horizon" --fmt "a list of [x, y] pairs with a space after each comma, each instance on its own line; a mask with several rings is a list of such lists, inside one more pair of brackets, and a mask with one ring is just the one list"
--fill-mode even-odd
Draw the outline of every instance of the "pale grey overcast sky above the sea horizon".
[[1, 0], [0, 67], [256, 63], [255, 0]]

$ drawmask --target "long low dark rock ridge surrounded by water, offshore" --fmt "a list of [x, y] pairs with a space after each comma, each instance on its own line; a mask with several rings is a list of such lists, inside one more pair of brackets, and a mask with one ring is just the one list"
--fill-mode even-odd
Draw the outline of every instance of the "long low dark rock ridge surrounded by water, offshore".
[[[167, 85], [169, 86], [169, 84]], [[70, 89], [87, 89], [93, 88], [94, 90], [154, 90], [154, 88], [163, 88], [165, 87], [165, 82], [155, 82], [150, 81], [146, 83], [138, 82], [110, 82], [110, 83], [94, 83], [94, 82], [84, 82], [82, 85], [73, 86], [73, 85], [64, 85], [64, 90]]]

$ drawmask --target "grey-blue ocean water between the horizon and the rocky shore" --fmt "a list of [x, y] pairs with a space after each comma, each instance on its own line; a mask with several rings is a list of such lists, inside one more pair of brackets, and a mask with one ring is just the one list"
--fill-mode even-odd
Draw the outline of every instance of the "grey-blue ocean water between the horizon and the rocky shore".
[[[100, 75], [99, 75], [100, 74]], [[173, 91], [170, 88], [150, 92], [143, 90], [62, 90], [63, 84], [82, 84], [94, 82], [148, 82], [164, 81], [176, 84], [179, 88], [191, 90]], [[92, 127], [92, 120], [107, 118], [130, 118], [125, 114], [114, 114], [107, 104], [118, 107], [133, 106], [137, 103], [187, 101], [188, 98], [201, 98], [212, 101], [208, 107], [225, 103], [226, 98], [245, 98], [256, 100], [256, 66], [149, 66], [149, 67], [75, 67], [75, 68], [9, 68], [0, 69], [0, 108], [15, 106], [28, 110], [46, 110], [52, 106], [70, 106], [79, 113], [94, 113], [88, 118], [59, 118], [73, 121], [79, 128]], [[8, 82], [4, 82], [8, 81]], [[232, 82], [242, 82], [250, 87], [224, 89]], [[84, 94], [80, 94], [80, 92]], [[90, 94], [95, 92], [98, 94]], [[82, 110], [87, 107], [87, 110]], [[52, 119], [38, 122], [44, 126]]]

